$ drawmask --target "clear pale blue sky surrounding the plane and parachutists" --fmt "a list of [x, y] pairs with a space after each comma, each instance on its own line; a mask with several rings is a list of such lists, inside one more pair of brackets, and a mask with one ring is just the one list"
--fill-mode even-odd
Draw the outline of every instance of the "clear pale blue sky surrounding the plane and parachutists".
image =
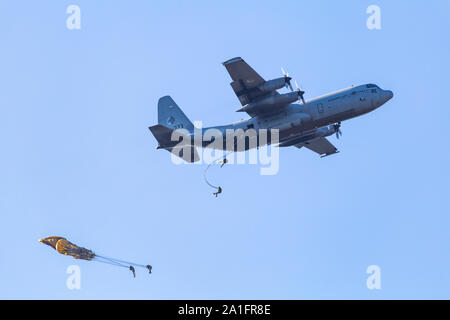
[[[66, 8], [81, 8], [81, 30]], [[366, 9], [381, 8], [381, 30]], [[0, 298], [450, 298], [448, 1], [0, 2]], [[148, 126], [170, 94], [205, 126], [239, 120], [221, 62], [306, 98], [394, 92], [320, 159], [280, 170], [175, 166]], [[76, 261], [65, 236], [138, 270]], [[66, 287], [69, 265], [81, 290]], [[381, 290], [366, 269], [381, 268]]]

